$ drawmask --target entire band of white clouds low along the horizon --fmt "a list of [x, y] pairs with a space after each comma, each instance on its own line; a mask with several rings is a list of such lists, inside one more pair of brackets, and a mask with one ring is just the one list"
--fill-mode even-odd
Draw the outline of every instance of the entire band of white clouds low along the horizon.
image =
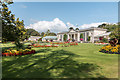
[[[107, 22], [99, 22], [99, 23], [83, 24], [79, 27], [76, 27], [78, 26], [77, 24], [76, 26], [71, 24], [70, 22], [67, 22], [65, 24], [59, 18], [55, 18], [53, 19], [53, 21], [38, 21], [31, 18], [30, 21], [31, 24], [29, 26], [26, 26], [26, 28], [33, 28], [38, 32], [46, 32], [49, 29], [51, 32], [55, 32], [55, 33], [68, 31], [70, 27], [73, 27], [74, 29], [76, 28], [85, 29], [90, 27], [98, 27], [103, 23], [107, 23]], [[107, 23], [107, 24], [111, 24], [111, 23]]]

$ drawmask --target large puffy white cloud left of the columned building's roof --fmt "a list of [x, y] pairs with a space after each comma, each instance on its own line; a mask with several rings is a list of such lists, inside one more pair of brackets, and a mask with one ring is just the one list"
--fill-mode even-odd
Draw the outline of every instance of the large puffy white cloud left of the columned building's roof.
[[26, 26], [26, 28], [33, 28], [38, 32], [46, 32], [49, 29], [51, 32], [56, 33], [68, 30], [66, 24], [59, 18], [55, 18], [53, 21], [38, 21]]

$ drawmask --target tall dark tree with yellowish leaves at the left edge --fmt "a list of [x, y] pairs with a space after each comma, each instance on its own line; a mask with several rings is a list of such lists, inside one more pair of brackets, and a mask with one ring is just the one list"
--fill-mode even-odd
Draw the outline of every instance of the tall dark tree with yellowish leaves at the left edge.
[[2, 5], [2, 41], [15, 41], [16, 46], [20, 47], [22, 45], [20, 40], [23, 39], [26, 30], [24, 28], [24, 21], [19, 21], [19, 18], [15, 20], [15, 16], [8, 10], [7, 5], [12, 3], [10, 1], [0, 3]]

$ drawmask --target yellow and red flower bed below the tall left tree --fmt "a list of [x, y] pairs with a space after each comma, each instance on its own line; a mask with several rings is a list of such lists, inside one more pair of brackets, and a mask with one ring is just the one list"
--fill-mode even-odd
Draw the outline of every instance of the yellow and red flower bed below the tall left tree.
[[17, 55], [27, 55], [27, 54], [34, 54], [35, 50], [33, 49], [6, 49], [2, 52], [2, 56], [17, 56]]

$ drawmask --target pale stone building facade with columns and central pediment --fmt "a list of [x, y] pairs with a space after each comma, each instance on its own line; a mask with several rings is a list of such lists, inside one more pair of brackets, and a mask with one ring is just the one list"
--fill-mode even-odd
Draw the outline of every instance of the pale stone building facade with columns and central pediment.
[[[68, 32], [61, 32], [57, 34], [57, 40], [58, 41], [64, 41], [64, 35], [67, 35], [67, 40], [74, 39], [77, 42], [80, 42], [80, 34], [83, 34], [83, 42], [88, 42], [88, 37], [90, 37], [90, 41], [94, 43], [95, 41], [99, 40], [99, 35], [106, 34], [107, 29], [102, 28], [87, 28], [87, 29], [81, 29], [81, 30], [74, 30], [71, 29]], [[109, 34], [108, 34], [109, 36]]]

